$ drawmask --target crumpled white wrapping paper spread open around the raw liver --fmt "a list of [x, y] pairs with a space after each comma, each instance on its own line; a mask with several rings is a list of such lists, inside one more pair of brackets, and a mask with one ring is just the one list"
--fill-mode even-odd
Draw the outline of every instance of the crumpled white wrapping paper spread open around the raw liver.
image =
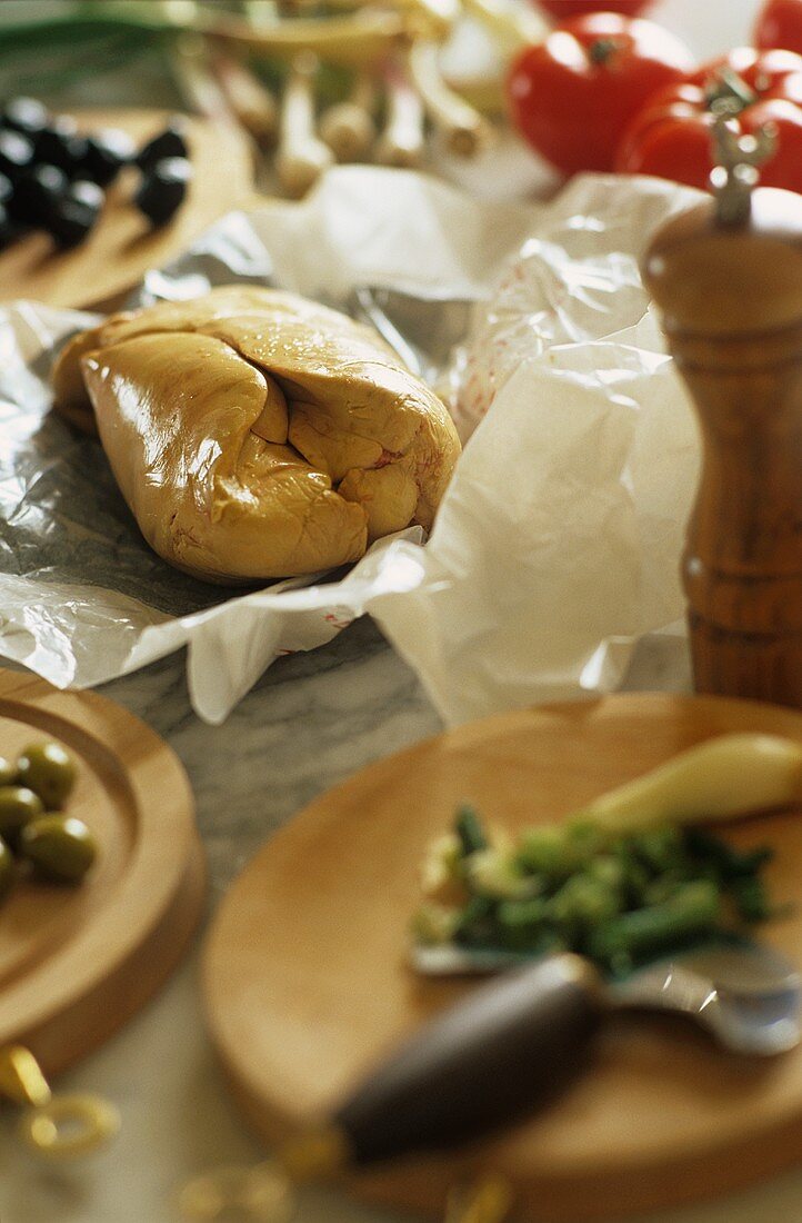
[[53, 353], [93, 317], [0, 309], [0, 653], [83, 687], [187, 645], [192, 703], [218, 723], [276, 657], [369, 613], [449, 723], [616, 686], [682, 614], [698, 443], [637, 258], [693, 198], [588, 176], [548, 204], [483, 204], [341, 168], [145, 276], [134, 302], [246, 279], [347, 308], [463, 437], [480, 421], [425, 545], [411, 530], [346, 574], [246, 594], [150, 553], [99, 445], [49, 415]]

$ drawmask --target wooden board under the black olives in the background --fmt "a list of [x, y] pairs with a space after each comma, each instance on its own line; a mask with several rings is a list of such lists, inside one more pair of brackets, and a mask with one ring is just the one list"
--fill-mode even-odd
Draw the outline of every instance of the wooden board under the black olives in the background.
[[[120, 127], [137, 143], [164, 127], [167, 117], [163, 110], [75, 111], [83, 131]], [[27, 297], [79, 308], [114, 300], [225, 213], [252, 204], [253, 165], [245, 136], [203, 119], [187, 119], [187, 125], [194, 176], [170, 224], [152, 230], [133, 207], [138, 177], [128, 170], [110, 188], [95, 230], [73, 251], [59, 253], [46, 234], [31, 234], [0, 254], [0, 301]]]

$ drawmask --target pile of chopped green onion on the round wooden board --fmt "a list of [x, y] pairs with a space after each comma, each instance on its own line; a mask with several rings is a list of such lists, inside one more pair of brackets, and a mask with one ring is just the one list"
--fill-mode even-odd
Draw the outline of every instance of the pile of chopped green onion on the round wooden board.
[[707, 828], [650, 819], [625, 832], [578, 815], [494, 837], [463, 804], [423, 862], [412, 937], [468, 963], [572, 950], [626, 975], [779, 916], [763, 878], [771, 857], [767, 846], [743, 852]]

